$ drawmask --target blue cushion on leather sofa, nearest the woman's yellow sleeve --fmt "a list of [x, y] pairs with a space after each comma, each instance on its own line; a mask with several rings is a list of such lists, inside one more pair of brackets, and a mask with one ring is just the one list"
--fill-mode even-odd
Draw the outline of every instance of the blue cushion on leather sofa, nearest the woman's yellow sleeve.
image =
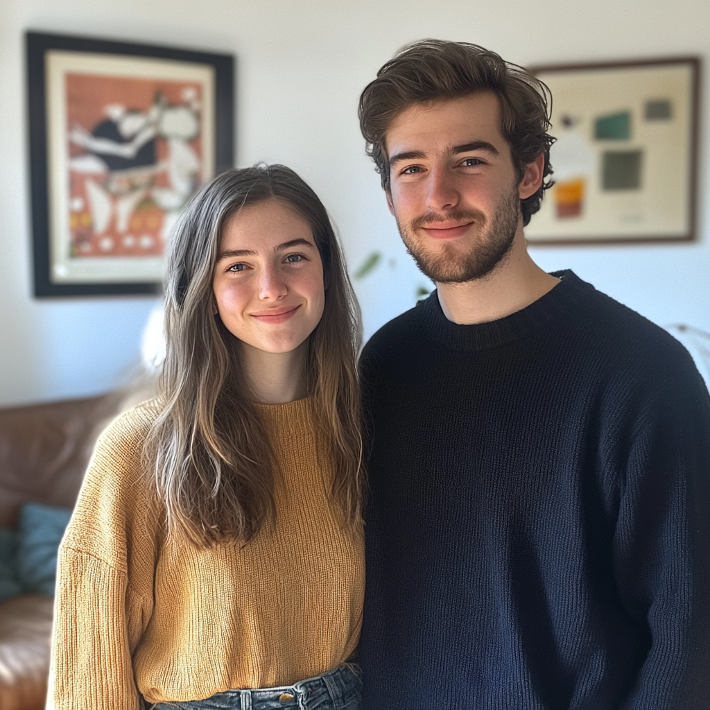
[[54, 594], [57, 552], [72, 511], [26, 503], [20, 509], [18, 570], [25, 591]]

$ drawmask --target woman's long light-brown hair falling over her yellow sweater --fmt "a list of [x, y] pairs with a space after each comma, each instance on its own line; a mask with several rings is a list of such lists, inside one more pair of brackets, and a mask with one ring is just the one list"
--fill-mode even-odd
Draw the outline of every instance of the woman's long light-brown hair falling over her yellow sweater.
[[295, 209], [320, 252], [325, 306], [307, 344], [307, 388], [334, 472], [332, 504], [344, 524], [362, 524], [356, 301], [322, 202], [290, 168], [262, 164], [229, 170], [205, 186], [180, 217], [168, 249], [161, 411], [143, 460], [153, 472], [154, 503], [168, 537], [197, 547], [248, 542], [276, 514], [273, 451], [245, 396], [239, 341], [214, 315], [212, 294], [226, 223], [242, 207], [266, 200]]

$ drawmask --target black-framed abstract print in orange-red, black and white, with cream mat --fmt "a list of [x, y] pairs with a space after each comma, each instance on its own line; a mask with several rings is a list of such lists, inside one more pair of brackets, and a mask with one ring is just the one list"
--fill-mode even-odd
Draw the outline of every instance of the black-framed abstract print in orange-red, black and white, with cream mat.
[[178, 214], [234, 165], [234, 58], [26, 39], [35, 295], [158, 292]]

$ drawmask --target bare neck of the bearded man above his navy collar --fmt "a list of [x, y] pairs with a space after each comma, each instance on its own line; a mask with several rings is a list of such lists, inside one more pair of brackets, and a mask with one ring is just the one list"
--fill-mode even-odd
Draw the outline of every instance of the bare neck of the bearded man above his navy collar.
[[523, 310], [555, 288], [559, 278], [532, 261], [518, 231], [510, 251], [484, 278], [464, 283], [437, 283], [444, 315], [459, 325], [499, 320]]

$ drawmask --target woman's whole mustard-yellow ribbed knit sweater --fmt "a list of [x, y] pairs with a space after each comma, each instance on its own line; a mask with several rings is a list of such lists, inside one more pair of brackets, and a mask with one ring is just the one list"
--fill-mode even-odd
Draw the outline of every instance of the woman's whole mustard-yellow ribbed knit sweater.
[[60, 547], [50, 707], [138, 710], [139, 694], [293, 684], [354, 652], [363, 540], [329, 505], [312, 406], [260, 405], [283, 475], [275, 525], [245, 547], [178, 547], [148, 519], [140, 461], [154, 405], [104, 432]]

